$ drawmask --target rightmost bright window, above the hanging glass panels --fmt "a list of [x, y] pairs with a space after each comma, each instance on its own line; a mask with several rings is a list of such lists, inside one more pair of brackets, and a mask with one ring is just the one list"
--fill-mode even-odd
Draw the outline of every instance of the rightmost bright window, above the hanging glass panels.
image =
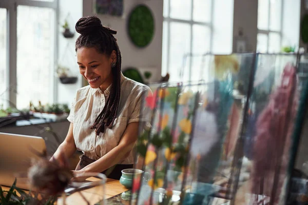
[[283, 0], [258, 1], [258, 52], [280, 52], [282, 36], [282, 3]]

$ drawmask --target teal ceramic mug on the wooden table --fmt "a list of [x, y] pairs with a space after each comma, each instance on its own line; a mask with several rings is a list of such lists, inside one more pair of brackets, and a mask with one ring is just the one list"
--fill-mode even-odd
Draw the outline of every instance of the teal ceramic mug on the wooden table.
[[143, 173], [144, 173], [143, 179], [145, 181], [148, 181], [150, 178], [150, 174], [148, 172], [143, 172], [142, 170], [138, 170], [138, 169], [122, 170], [122, 176], [120, 178], [120, 183], [127, 189], [131, 189], [134, 175], [140, 175], [141, 177]]

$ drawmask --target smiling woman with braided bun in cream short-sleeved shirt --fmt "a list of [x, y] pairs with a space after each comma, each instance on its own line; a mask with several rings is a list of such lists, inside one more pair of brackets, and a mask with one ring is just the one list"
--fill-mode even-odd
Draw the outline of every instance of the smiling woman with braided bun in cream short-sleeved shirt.
[[102, 172], [120, 179], [123, 169], [133, 167], [139, 127], [150, 120], [143, 95], [151, 91], [122, 74], [116, 31], [95, 16], [79, 19], [75, 29], [81, 34], [77, 64], [89, 86], [76, 92], [67, 137], [53, 158], [61, 160], [62, 153], [70, 157], [78, 149], [83, 155], [76, 174]]

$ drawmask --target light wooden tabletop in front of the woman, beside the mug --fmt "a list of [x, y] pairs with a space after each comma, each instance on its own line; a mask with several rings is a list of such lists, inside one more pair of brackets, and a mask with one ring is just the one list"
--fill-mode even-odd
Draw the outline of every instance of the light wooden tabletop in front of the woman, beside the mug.
[[[89, 181], [96, 181], [99, 180], [97, 178], [91, 177], [88, 179]], [[4, 191], [8, 191], [10, 188], [9, 187], [4, 187], [1, 186]], [[119, 180], [114, 180], [114, 179], [107, 179], [106, 184], [105, 184], [105, 199], [109, 199], [113, 196], [117, 196], [123, 192], [126, 192], [127, 189], [120, 184]], [[90, 204], [94, 204], [98, 202], [98, 197], [97, 193], [95, 193], [95, 188], [91, 188], [89, 190], [85, 190], [82, 192], [83, 195], [88, 198], [91, 198], [91, 201], [89, 201]], [[62, 204], [62, 199], [60, 198], [57, 202], [57, 204]], [[66, 204], [87, 204], [82, 196], [79, 193], [74, 193], [66, 198]]]

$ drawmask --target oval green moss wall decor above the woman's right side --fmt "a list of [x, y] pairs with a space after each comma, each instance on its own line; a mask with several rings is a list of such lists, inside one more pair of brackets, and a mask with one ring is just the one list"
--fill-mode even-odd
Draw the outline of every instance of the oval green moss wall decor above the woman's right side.
[[137, 47], [146, 47], [154, 35], [154, 18], [150, 9], [145, 5], [138, 5], [129, 14], [128, 35]]

